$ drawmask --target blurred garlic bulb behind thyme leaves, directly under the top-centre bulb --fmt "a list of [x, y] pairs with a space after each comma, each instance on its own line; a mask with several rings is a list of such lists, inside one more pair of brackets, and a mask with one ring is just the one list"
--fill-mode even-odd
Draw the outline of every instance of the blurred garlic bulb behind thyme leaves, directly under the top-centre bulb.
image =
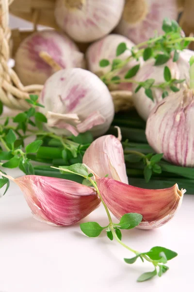
[[[101, 76], [111, 71], [111, 65], [107, 67], [99, 66], [99, 61], [101, 59], [108, 59], [111, 63], [113, 59], [126, 60], [127, 57], [131, 55], [131, 53], [128, 50], [126, 50], [122, 55], [119, 55], [118, 57], [116, 57], [116, 48], [122, 42], [125, 42], [129, 49], [131, 49], [135, 45], [127, 37], [123, 37], [123, 36], [115, 35], [115, 34], [111, 34], [109, 36], [103, 37], [102, 39], [91, 44], [86, 52], [86, 60], [88, 64], [88, 69], [91, 72], [97, 74], [97, 76]], [[135, 65], [137, 65], [137, 62], [133, 59], [124, 68], [122, 68], [120, 72], [116, 73], [116, 75], [119, 76], [121, 79], [123, 79], [125, 74], [129, 71], [129, 69]], [[110, 84], [109, 89], [131, 91], [131, 87], [132, 87], [131, 83], [121, 83], [121, 84]]]

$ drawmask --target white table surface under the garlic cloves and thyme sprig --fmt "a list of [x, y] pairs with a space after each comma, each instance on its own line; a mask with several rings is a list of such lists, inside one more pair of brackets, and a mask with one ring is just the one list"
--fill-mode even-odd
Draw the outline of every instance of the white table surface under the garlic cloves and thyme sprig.
[[[9, 174], [18, 177], [20, 172]], [[193, 291], [193, 214], [194, 196], [185, 195], [176, 217], [165, 226], [123, 231], [124, 242], [138, 251], [160, 245], [178, 252], [161, 278], [137, 283], [140, 274], [153, 270], [152, 265], [140, 260], [126, 264], [123, 258], [133, 254], [105, 233], [88, 238], [79, 224], [53, 227], [36, 221], [19, 187], [11, 183], [0, 198], [0, 292]], [[106, 225], [103, 207], [84, 221]]]

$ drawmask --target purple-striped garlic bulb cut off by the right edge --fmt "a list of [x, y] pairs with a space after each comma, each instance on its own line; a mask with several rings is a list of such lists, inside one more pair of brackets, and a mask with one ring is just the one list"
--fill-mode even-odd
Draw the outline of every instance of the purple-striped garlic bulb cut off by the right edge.
[[167, 161], [194, 167], [194, 93], [182, 89], [165, 97], [146, 124], [149, 145]]

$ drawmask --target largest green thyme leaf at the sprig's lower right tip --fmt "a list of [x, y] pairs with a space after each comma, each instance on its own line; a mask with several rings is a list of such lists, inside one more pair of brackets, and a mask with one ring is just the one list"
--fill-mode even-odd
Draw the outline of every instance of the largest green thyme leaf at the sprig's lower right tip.
[[172, 258], [174, 258], [178, 255], [176, 252], [173, 252], [173, 251], [171, 251], [165, 247], [162, 247], [162, 246], [152, 247], [150, 249], [150, 251], [145, 253], [145, 254], [153, 260], [160, 260], [162, 257], [161, 253], [164, 253], [167, 260], [171, 260]]

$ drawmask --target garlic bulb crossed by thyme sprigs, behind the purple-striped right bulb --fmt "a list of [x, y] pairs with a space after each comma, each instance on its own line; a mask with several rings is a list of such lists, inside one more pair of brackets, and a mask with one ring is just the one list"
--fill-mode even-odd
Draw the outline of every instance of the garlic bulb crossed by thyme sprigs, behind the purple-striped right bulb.
[[[155, 79], [155, 85], [165, 82], [163, 77], [164, 67], [168, 66], [171, 72], [172, 78], [179, 79], [180, 78], [180, 71], [178, 69], [178, 64], [173, 62], [172, 58], [168, 60], [167, 63], [154, 66], [155, 59], [147, 60], [143, 66], [139, 69], [137, 74], [134, 77], [136, 81], [146, 81], [147, 79]], [[133, 84], [132, 91], [133, 91], [133, 102], [134, 106], [138, 112], [138, 114], [146, 121], [149, 113], [155, 107], [157, 103], [162, 101], [162, 89], [160, 88], [153, 88], [152, 93], [154, 97], [154, 101], [146, 96], [145, 89], [141, 88], [139, 91], [135, 93], [135, 89], [137, 88], [137, 84]]]

